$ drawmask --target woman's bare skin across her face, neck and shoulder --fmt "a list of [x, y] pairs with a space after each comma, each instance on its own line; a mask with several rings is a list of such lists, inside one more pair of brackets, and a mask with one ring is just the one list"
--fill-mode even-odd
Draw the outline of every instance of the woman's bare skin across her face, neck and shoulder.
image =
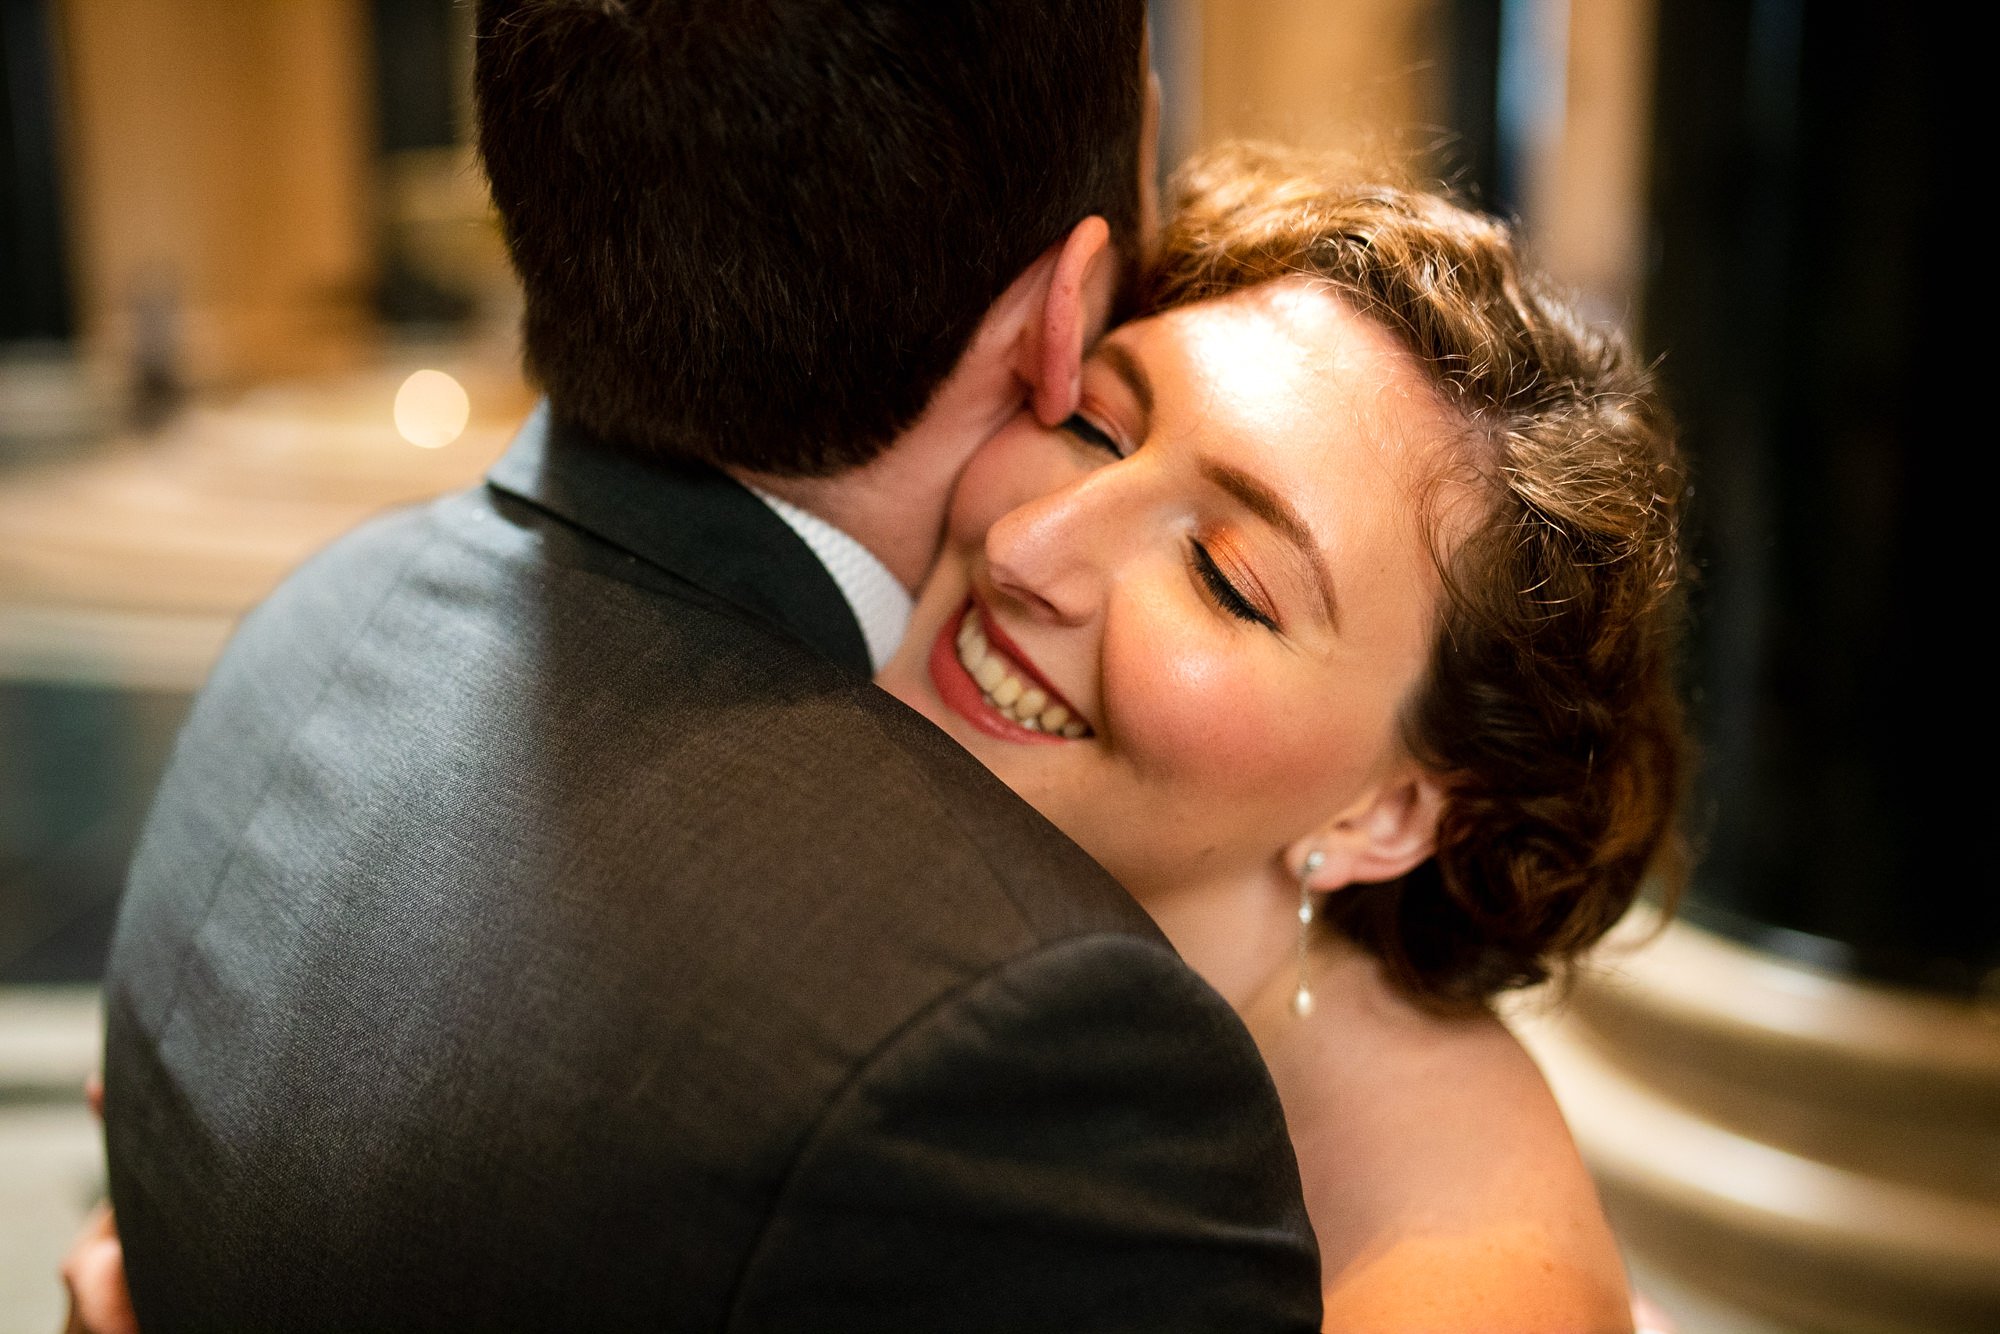
[[[1244, 1016], [1298, 1148], [1328, 1328], [1628, 1330], [1590, 1178], [1498, 1020], [1416, 1010], [1332, 934], [1310, 1020], [1290, 1006], [1286, 850], [1414, 772], [1396, 718], [1438, 614], [1416, 496], [1462, 420], [1388, 332], [1306, 282], [1106, 342], [1144, 372], [1150, 412], [1100, 348], [1082, 416], [1116, 454], [1024, 412], [972, 458], [884, 688], [1096, 856]], [[1206, 464], [1304, 522], [1338, 626], [1308, 558]], [[1446, 550], [1466, 496], [1438, 496]], [[1230, 614], [1190, 542], [1276, 632]], [[940, 698], [930, 650], [974, 596], [1092, 736], [1010, 742]]]

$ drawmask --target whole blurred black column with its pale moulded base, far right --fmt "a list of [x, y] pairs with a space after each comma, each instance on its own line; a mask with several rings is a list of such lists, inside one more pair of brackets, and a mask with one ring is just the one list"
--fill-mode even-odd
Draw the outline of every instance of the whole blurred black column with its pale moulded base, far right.
[[1936, 598], [1976, 520], [1932, 504], [1964, 488], [1934, 404], [1978, 346], [1946, 332], [1968, 284], [1942, 42], [1910, 8], [1660, 4], [1650, 80], [1596, 66], [1654, 86], [1636, 172], [1608, 132], [1578, 142], [1582, 44], [1632, 50], [1630, 16], [1570, 8], [1572, 142], [1522, 208], [1614, 314], [1642, 278], [1694, 470], [1702, 856], [1682, 922], [1608, 952], [1544, 1068], [1646, 1282], [1786, 1330], [1994, 1330], [1978, 614]]

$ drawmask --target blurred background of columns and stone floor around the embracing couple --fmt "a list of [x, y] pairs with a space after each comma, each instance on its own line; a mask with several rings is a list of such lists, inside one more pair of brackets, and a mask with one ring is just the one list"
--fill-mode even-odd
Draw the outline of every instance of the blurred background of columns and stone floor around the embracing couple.
[[[1916, 354], [1966, 284], [1920, 6], [1152, 10], [1168, 166], [1414, 160], [1686, 428], [1700, 870], [1514, 1016], [1638, 1284], [1690, 1334], [2000, 1328], [2000, 896], [1934, 834], [1968, 780], [1916, 722]], [[468, 64], [454, 0], [0, 0], [0, 1330], [58, 1324], [94, 982], [234, 618], [532, 404]]]

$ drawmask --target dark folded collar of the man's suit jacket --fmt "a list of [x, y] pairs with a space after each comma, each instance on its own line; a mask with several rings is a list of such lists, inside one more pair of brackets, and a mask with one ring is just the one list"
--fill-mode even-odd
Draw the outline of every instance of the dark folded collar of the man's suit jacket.
[[726, 472], [638, 458], [558, 418], [544, 402], [486, 484], [868, 676], [868, 642], [834, 576], [790, 524]]

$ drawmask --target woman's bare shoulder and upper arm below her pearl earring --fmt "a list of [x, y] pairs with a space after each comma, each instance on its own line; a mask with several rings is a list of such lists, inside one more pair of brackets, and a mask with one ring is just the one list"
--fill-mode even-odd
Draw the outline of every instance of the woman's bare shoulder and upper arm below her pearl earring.
[[[1626, 1330], [1624, 1266], [1542, 1072], [1500, 1024], [1332, 952], [1310, 1020], [1260, 1008], [1320, 1236], [1328, 1328]], [[1284, 1024], [1290, 1020], [1290, 1024]]]

